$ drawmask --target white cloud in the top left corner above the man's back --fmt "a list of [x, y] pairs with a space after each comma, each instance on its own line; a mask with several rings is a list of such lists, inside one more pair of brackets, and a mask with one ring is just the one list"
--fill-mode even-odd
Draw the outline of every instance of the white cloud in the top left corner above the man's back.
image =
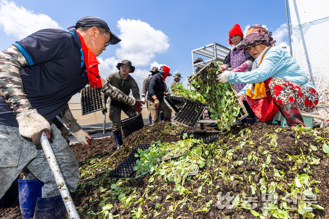
[[35, 31], [45, 28], [62, 29], [48, 15], [35, 14], [14, 2], [0, 1], [0, 25], [7, 35], [24, 38]]

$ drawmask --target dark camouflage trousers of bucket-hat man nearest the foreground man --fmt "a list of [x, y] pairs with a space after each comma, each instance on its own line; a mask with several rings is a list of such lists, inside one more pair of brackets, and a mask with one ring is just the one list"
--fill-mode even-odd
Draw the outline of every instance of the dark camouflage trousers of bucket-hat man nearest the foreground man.
[[136, 115], [136, 111], [132, 106], [124, 107], [109, 106], [109, 119], [112, 121], [112, 132], [121, 131], [121, 110], [129, 117]]

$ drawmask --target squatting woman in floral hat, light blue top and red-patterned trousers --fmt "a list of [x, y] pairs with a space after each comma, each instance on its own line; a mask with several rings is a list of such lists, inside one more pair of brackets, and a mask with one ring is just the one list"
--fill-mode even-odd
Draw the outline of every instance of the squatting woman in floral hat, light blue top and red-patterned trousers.
[[255, 58], [251, 71], [225, 71], [217, 79], [222, 83], [246, 83], [239, 95], [247, 98], [262, 122], [271, 120], [279, 107], [288, 126], [304, 126], [301, 110], [313, 109], [318, 104], [319, 94], [296, 60], [274, 43], [265, 28], [251, 26], [238, 47]]

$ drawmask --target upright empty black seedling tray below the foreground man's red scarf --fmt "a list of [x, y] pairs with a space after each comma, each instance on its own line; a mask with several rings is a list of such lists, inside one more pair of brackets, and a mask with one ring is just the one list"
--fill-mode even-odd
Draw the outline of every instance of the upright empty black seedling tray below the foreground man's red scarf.
[[103, 94], [99, 89], [84, 87], [80, 93], [82, 115], [105, 108]]

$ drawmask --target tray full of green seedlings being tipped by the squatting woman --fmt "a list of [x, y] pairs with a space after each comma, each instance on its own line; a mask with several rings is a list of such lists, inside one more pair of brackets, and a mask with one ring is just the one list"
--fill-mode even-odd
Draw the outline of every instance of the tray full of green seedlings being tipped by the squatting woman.
[[229, 131], [232, 125], [247, 117], [248, 112], [233, 86], [217, 81], [217, 74], [221, 72], [220, 64], [212, 61], [193, 74], [189, 83], [207, 100], [218, 129]]

